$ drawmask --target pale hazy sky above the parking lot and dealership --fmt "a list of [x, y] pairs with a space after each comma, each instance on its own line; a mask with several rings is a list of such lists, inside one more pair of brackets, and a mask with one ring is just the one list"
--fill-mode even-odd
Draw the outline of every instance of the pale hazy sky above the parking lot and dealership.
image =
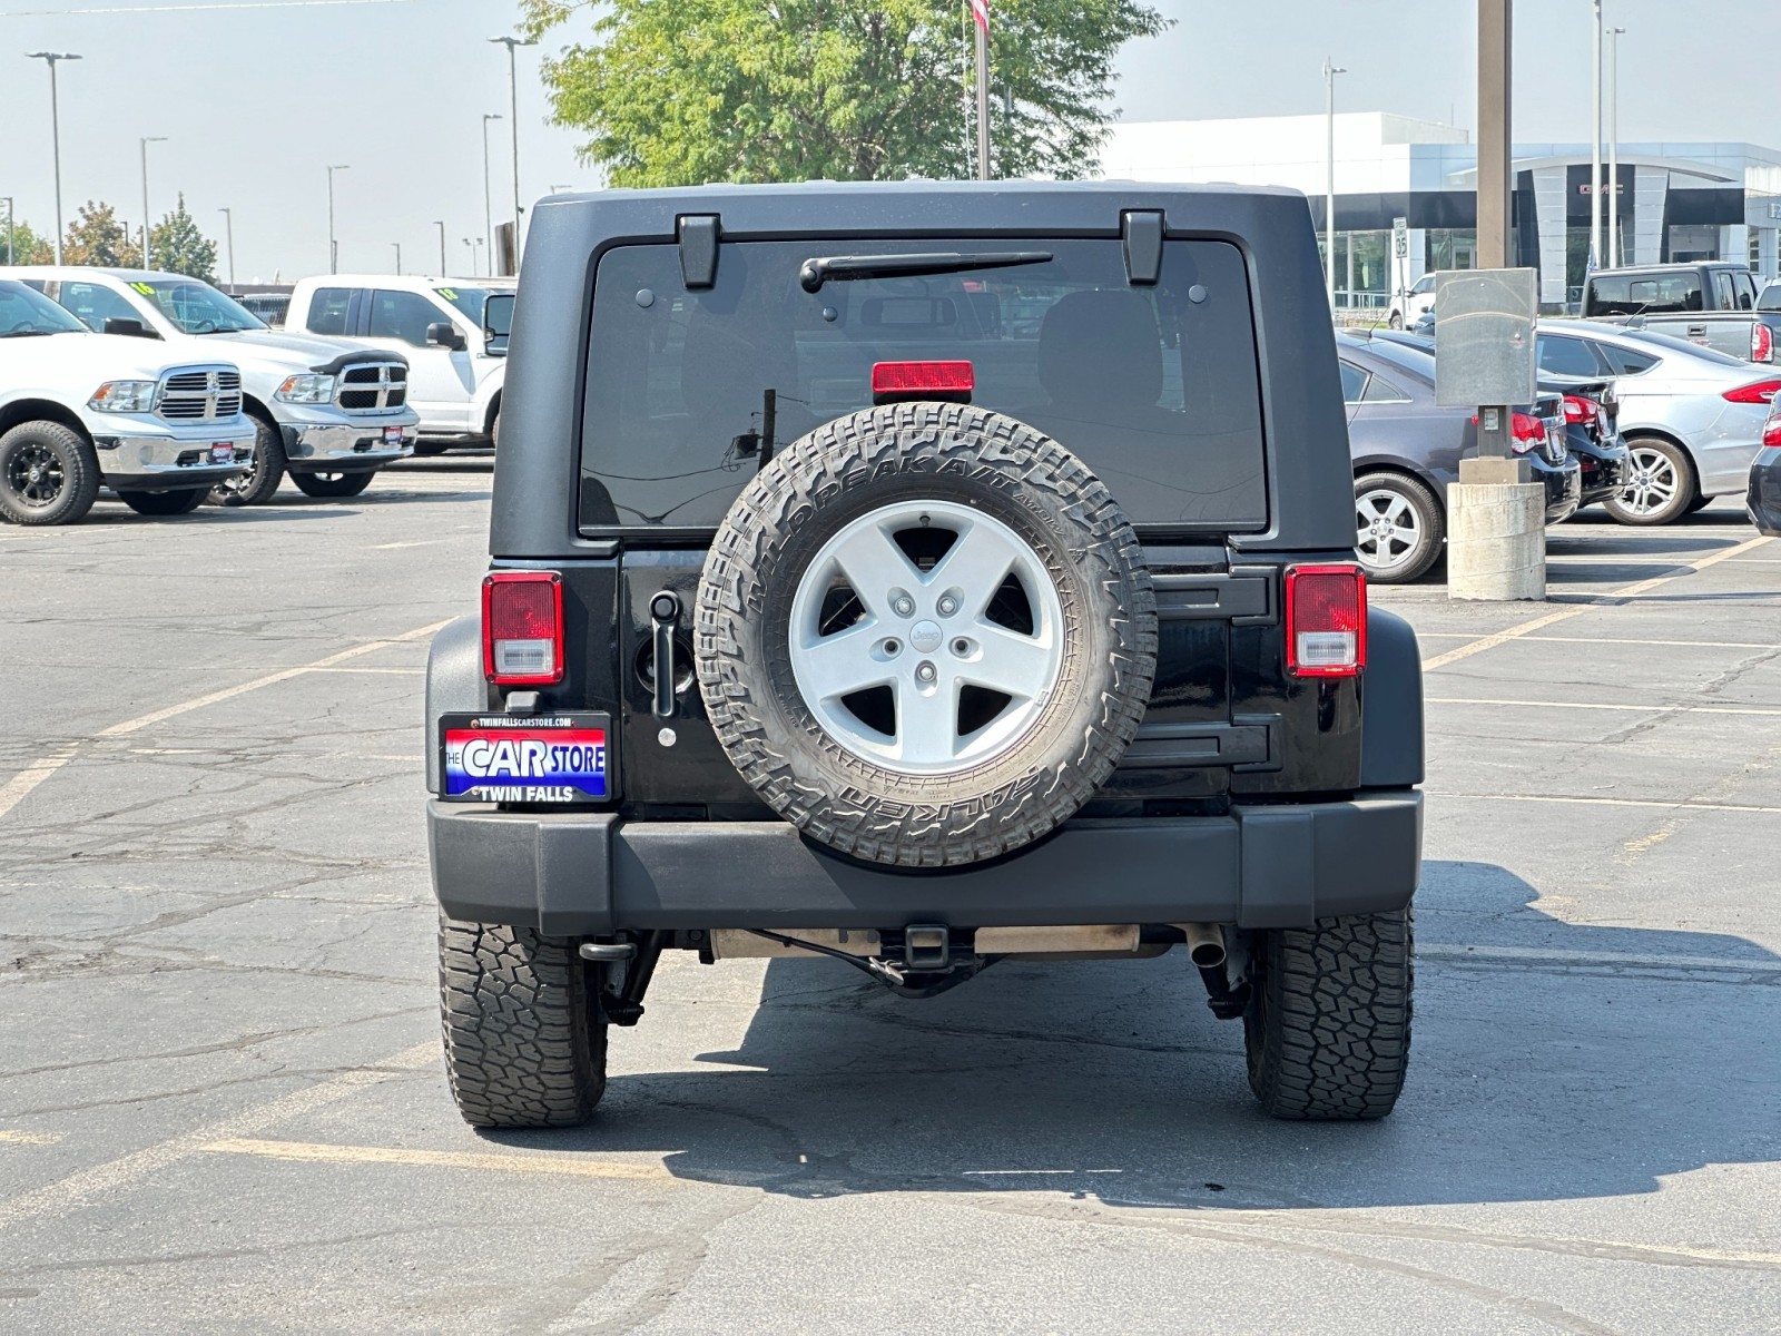
[[[508, 112], [508, 61], [484, 39], [509, 32], [504, 0], [397, 0], [303, 9], [205, 11], [228, 0], [0, 0], [0, 196], [52, 228], [48, 75], [61, 66], [62, 200], [109, 200], [141, 217], [139, 135], [150, 144], [150, 212], [185, 191], [221, 240], [235, 216], [240, 281], [328, 267], [326, 164], [335, 175], [342, 269], [470, 264], [483, 228], [483, 112]], [[162, 7], [82, 14], [82, 9]], [[1270, 116], [1323, 109], [1325, 53], [1348, 110], [1398, 110], [1471, 126], [1473, 0], [1159, 0], [1175, 27], [1129, 46], [1115, 105], [1126, 119]], [[1767, 57], [1781, 48], [1777, 0], [1606, 0], [1621, 39], [1624, 139], [1781, 146]], [[1516, 137], [1587, 141], [1589, 0], [1521, 0]], [[520, 52], [520, 185], [591, 185], [575, 137], [545, 125], [538, 50]], [[511, 198], [508, 121], [490, 125], [495, 221]], [[484, 249], [486, 264], [486, 249]]]

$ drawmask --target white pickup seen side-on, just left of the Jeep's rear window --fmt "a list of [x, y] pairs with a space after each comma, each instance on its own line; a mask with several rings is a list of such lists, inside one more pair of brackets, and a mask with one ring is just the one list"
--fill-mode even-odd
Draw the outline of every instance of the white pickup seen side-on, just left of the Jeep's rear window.
[[511, 297], [513, 280], [326, 274], [292, 289], [285, 326], [406, 356], [420, 413], [415, 452], [438, 454], [500, 438], [508, 338], [483, 319], [492, 296]]

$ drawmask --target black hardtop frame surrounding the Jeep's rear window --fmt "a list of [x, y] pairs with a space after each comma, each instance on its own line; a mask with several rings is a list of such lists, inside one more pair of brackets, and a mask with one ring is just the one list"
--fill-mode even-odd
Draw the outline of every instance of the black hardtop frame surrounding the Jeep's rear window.
[[1270, 517], [1234, 547], [1350, 549], [1354, 476], [1323, 267], [1305, 196], [1281, 187], [1152, 182], [801, 182], [593, 191], [540, 201], [527, 224], [490, 550], [509, 561], [593, 556], [575, 531], [593, 269], [613, 244], [673, 242], [686, 216], [725, 240], [798, 237], [1118, 237], [1161, 210], [1168, 235], [1245, 253], [1268, 440]]

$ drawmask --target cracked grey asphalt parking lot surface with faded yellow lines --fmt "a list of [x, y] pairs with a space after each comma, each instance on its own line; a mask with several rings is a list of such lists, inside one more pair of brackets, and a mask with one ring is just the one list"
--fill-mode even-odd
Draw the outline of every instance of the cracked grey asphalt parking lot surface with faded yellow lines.
[[1375, 590], [1430, 670], [1393, 1119], [1263, 1119], [1179, 953], [926, 1003], [677, 957], [597, 1122], [476, 1135], [419, 720], [488, 483], [0, 529], [0, 1329], [1776, 1327], [1781, 543], [1735, 502], [1555, 529], [1544, 606]]

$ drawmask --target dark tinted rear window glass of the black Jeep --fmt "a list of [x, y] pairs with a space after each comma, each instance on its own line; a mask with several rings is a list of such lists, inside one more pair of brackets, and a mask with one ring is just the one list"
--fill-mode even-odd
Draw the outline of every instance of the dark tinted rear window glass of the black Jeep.
[[[830, 280], [835, 255], [1038, 251], [1042, 264]], [[725, 242], [687, 292], [675, 246], [620, 246], [595, 280], [584, 529], [712, 529], [773, 447], [869, 408], [876, 362], [972, 363], [972, 403], [1045, 431], [1134, 524], [1265, 527], [1261, 385], [1243, 258], [1170, 240], [1133, 287], [1118, 240]]]

